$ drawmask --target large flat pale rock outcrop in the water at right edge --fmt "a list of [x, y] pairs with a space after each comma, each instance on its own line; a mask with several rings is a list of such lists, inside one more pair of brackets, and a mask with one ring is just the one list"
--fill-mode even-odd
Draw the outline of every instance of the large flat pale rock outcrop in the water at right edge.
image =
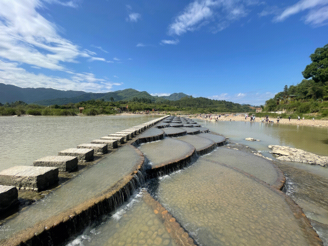
[[328, 166], [328, 156], [320, 156], [304, 150], [291, 148], [288, 146], [269, 145], [273, 154], [279, 155], [278, 160], [281, 161], [296, 161], [308, 164], [317, 164], [323, 167]]

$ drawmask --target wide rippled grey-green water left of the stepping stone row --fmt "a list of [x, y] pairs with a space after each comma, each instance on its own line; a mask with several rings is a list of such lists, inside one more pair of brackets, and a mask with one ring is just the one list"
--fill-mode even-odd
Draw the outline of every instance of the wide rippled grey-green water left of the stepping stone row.
[[0, 117], [0, 171], [32, 165], [47, 155], [90, 143], [108, 134], [160, 116], [24, 116]]

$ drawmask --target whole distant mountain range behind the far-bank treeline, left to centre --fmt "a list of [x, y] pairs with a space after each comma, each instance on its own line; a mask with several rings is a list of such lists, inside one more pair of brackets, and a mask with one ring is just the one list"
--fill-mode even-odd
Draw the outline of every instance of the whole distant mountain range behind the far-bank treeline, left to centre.
[[15, 101], [24, 101], [26, 103], [36, 103], [39, 105], [62, 105], [68, 103], [77, 103], [92, 99], [104, 101], [132, 100], [135, 98], [146, 98], [151, 101], [179, 100], [183, 97], [189, 97], [182, 92], [173, 93], [169, 96], [152, 96], [146, 91], [139, 92], [134, 89], [125, 89], [107, 93], [93, 93], [84, 91], [61, 91], [52, 88], [21, 88], [14, 85], [5, 85], [0, 83], [0, 103], [11, 103]]

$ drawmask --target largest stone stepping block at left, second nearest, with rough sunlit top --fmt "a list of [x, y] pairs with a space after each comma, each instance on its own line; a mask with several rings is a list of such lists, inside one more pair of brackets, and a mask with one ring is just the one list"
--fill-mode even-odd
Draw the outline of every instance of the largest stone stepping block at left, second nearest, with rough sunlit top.
[[55, 182], [58, 182], [56, 167], [14, 166], [0, 172], [1, 185], [44, 190]]

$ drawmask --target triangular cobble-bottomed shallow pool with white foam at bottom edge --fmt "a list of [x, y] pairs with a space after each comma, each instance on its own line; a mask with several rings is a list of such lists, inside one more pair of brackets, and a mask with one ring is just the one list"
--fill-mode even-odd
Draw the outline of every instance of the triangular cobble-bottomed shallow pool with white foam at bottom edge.
[[104, 221], [88, 228], [67, 246], [174, 246], [174, 240], [168, 234], [163, 222], [156, 216], [138, 194], [128, 204]]

